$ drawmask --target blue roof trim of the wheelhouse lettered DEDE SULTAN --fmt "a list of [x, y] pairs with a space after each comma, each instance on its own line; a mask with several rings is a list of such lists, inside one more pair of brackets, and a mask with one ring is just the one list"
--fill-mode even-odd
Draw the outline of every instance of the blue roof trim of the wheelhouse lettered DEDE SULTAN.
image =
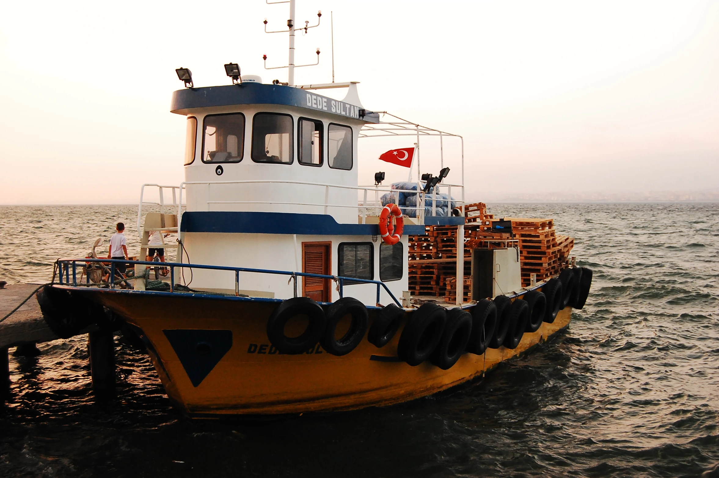
[[211, 106], [235, 106], [244, 104], [275, 104], [296, 106], [297, 108], [321, 111], [341, 118], [356, 119], [365, 123], [379, 123], [380, 115], [366, 111], [360, 113], [359, 106], [335, 100], [301, 88], [283, 85], [265, 85], [262, 83], [242, 83], [242, 85], [208, 86], [206, 88], [185, 88], [173, 91], [170, 111], [187, 114], [193, 108]]

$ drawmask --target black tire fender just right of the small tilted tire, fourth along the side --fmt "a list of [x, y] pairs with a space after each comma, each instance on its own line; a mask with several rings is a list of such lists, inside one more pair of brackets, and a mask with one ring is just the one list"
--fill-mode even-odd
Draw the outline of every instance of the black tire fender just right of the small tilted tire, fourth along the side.
[[397, 355], [412, 367], [429, 359], [442, 338], [446, 313], [436, 303], [424, 303], [408, 319], [400, 341]]

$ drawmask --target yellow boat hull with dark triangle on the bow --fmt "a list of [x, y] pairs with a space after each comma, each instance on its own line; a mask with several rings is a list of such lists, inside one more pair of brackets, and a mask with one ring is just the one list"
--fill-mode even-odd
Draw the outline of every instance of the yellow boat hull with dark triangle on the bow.
[[[442, 370], [429, 362], [417, 367], [399, 362], [401, 329], [381, 349], [363, 340], [343, 357], [319, 345], [305, 354], [279, 354], [266, 332], [276, 303], [132, 293], [93, 294], [93, 300], [142, 331], [170, 400], [189, 415], [326, 412], [406, 402], [481, 377], [566, 327], [572, 316], [567, 307], [554, 323], [542, 323], [538, 331], [524, 334], [516, 349], [467, 353], [454, 367]], [[370, 325], [372, 320], [370, 311]], [[168, 331], [178, 330], [188, 336], [221, 331], [230, 337], [224, 355], [199, 383], [188, 372], [192, 357], [187, 352], [179, 357], [178, 344], [168, 339]]]

